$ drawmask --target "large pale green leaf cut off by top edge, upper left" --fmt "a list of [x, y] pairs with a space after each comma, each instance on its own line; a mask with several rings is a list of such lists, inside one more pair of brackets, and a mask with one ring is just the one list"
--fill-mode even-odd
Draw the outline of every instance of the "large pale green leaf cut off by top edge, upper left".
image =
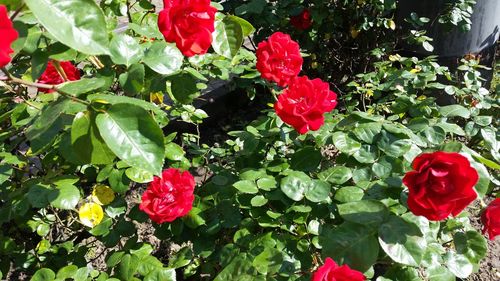
[[25, 3], [61, 43], [88, 55], [108, 53], [106, 19], [94, 0], [26, 0]]

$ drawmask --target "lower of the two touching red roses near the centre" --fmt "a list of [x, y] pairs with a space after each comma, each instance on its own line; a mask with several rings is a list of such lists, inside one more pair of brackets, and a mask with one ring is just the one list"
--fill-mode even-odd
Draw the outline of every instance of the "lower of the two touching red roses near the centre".
[[274, 104], [276, 114], [300, 134], [318, 130], [324, 123], [323, 114], [337, 106], [337, 95], [328, 83], [306, 76], [293, 79]]

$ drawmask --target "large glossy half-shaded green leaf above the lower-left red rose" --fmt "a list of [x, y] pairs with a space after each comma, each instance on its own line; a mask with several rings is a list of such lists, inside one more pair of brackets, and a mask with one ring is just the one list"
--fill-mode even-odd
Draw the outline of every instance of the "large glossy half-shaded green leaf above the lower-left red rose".
[[96, 118], [108, 147], [130, 166], [161, 174], [165, 145], [163, 132], [151, 115], [132, 104], [114, 104]]

